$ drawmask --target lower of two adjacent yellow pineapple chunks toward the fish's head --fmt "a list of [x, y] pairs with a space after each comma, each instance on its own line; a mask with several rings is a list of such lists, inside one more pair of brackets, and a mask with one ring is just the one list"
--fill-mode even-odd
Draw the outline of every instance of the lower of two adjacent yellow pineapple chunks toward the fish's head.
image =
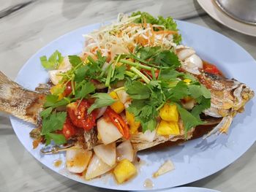
[[178, 122], [161, 120], [157, 127], [157, 134], [164, 136], [180, 134]]

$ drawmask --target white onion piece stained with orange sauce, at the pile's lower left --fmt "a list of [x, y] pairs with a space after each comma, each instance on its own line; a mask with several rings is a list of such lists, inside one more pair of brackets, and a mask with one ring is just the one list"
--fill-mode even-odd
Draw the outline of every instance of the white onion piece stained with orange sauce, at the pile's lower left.
[[67, 170], [72, 173], [83, 172], [89, 164], [92, 152], [83, 149], [69, 149], [66, 152]]

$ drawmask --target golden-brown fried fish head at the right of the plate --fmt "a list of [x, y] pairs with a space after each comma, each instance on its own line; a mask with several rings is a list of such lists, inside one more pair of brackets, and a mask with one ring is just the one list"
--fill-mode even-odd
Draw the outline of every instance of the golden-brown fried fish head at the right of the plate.
[[197, 76], [197, 80], [211, 92], [211, 107], [205, 110], [205, 114], [211, 117], [221, 118], [243, 112], [244, 105], [255, 95], [244, 83], [218, 74], [205, 72]]

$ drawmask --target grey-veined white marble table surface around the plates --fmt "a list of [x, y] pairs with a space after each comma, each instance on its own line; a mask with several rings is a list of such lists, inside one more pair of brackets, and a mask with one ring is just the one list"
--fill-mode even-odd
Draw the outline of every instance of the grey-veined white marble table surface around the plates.
[[[211, 28], [233, 39], [256, 58], [256, 38], [239, 34], [210, 18], [193, 0], [0, 0], [0, 70], [15, 79], [39, 48], [69, 31], [142, 10], [171, 15]], [[105, 191], [62, 177], [36, 161], [15, 136], [9, 117], [0, 113], [0, 191]], [[190, 186], [219, 191], [255, 191], [256, 145], [216, 174]], [[211, 165], [209, 165], [211, 166]]]

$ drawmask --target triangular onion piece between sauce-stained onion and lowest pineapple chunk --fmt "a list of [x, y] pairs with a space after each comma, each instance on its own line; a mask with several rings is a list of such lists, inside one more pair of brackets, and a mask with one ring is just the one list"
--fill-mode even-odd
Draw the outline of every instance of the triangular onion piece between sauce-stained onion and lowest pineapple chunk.
[[86, 180], [91, 180], [94, 177], [105, 174], [110, 171], [113, 167], [105, 164], [97, 155], [94, 155], [86, 171]]

